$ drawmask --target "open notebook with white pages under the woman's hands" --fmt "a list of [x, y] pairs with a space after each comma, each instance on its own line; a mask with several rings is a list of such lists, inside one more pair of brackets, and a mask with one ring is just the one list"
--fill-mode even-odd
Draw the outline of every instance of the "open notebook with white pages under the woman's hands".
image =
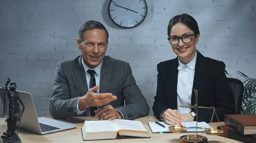
[[[169, 126], [166, 125], [165, 122], [158, 122], [161, 123], [162, 125], [165, 126], [163, 128], [162, 126], [157, 125], [155, 122], [149, 122], [148, 126], [150, 127], [152, 133], [159, 133], [159, 132], [170, 132], [169, 131]], [[196, 132], [196, 121], [192, 122], [182, 122], [181, 123], [183, 126], [187, 127], [186, 132]], [[198, 132], [204, 132], [205, 129], [212, 129], [206, 122], [198, 122]]]

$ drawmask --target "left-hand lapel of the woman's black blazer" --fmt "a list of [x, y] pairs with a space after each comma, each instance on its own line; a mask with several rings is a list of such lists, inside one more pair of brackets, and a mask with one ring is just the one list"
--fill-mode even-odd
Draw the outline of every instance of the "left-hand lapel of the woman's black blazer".
[[169, 67], [169, 74], [166, 78], [168, 87], [166, 88], [166, 94], [171, 100], [169, 100], [169, 106], [171, 109], [177, 109], [177, 82], [178, 82], [178, 57], [171, 63]]

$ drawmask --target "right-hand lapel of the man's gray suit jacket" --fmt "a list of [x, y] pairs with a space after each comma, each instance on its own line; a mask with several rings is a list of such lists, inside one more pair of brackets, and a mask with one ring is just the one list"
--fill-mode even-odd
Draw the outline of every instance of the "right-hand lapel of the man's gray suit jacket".
[[100, 83], [99, 83], [99, 93], [106, 93], [108, 89], [108, 84], [110, 81], [110, 76], [113, 66], [111, 66], [111, 61], [108, 57], [103, 58], [102, 68], [100, 71]]

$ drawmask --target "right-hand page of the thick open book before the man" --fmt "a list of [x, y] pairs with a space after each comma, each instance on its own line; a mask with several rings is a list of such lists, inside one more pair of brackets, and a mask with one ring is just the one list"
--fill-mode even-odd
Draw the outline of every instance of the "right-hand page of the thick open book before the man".
[[114, 120], [116, 128], [128, 129], [128, 130], [140, 130], [148, 132], [140, 121], [130, 121], [130, 120]]

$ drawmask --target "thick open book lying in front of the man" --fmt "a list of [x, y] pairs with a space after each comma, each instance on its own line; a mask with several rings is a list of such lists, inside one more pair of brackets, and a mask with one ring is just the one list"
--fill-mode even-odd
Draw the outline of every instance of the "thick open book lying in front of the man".
[[123, 136], [149, 138], [148, 131], [140, 121], [84, 121], [83, 140], [117, 139]]

